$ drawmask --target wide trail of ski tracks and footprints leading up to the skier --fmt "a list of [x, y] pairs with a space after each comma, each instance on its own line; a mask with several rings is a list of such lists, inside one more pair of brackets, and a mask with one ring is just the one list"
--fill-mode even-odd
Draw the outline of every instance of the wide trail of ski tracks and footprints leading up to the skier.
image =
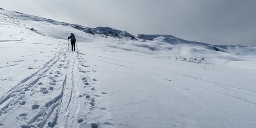
[[[86, 119], [90, 122], [93, 119], [84, 114], [93, 113], [95, 87], [89, 84], [93, 80], [88, 77], [90, 71], [81, 55], [85, 54], [69, 52], [67, 48], [60, 49], [41, 69], [4, 94], [0, 98], [0, 128], [13, 124], [17, 128], [91, 127]], [[86, 93], [80, 94], [81, 89]], [[83, 114], [79, 114], [80, 105], [88, 108]], [[27, 111], [19, 111], [22, 107]], [[15, 113], [20, 113], [16, 119], [10, 116]], [[93, 124], [99, 126], [98, 123]]]

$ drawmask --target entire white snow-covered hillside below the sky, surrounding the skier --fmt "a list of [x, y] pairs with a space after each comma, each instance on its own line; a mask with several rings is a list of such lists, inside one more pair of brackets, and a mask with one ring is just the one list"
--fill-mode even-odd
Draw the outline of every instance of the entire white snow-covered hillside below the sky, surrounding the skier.
[[255, 128], [256, 48], [74, 26], [0, 9], [0, 128]]

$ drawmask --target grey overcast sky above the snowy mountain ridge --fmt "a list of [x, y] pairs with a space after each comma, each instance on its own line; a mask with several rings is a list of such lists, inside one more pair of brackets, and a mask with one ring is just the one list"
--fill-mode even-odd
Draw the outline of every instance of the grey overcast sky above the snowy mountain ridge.
[[0, 0], [0, 8], [133, 35], [256, 47], [256, 0]]

